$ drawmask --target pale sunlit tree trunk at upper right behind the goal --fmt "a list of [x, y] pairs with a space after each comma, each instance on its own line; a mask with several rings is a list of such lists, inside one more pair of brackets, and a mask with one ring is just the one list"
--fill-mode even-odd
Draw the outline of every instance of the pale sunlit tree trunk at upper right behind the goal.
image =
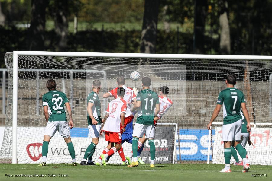
[[231, 41], [228, 23], [228, 1], [219, 0], [220, 50], [221, 54], [230, 54]]

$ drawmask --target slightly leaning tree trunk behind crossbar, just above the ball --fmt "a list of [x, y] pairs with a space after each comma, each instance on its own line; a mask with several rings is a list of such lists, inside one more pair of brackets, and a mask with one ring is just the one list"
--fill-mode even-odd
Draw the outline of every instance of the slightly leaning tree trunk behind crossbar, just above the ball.
[[156, 52], [156, 35], [158, 22], [158, 0], [145, 0], [144, 2], [144, 19], [141, 33], [141, 53]]

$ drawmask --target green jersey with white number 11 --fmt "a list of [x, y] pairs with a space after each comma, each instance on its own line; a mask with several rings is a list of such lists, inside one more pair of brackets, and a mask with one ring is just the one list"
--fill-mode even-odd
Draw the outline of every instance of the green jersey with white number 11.
[[141, 101], [136, 123], [153, 125], [155, 105], [160, 104], [158, 94], [150, 89], [144, 89], [137, 94], [136, 101]]

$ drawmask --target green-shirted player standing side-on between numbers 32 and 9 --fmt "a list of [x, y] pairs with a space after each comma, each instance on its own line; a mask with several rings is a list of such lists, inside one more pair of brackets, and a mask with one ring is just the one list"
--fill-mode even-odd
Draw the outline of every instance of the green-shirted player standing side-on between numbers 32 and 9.
[[[102, 119], [100, 118], [101, 103], [98, 97], [100, 89], [101, 82], [99, 80], [94, 80], [92, 82], [92, 92], [89, 93], [87, 97], [87, 120], [92, 143], [87, 147], [83, 160], [80, 162], [80, 165], [95, 165], [92, 162], [92, 155], [96, 150], [96, 145], [98, 144], [100, 127], [102, 123]], [[87, 158], [88, 162], [86, 162]]]

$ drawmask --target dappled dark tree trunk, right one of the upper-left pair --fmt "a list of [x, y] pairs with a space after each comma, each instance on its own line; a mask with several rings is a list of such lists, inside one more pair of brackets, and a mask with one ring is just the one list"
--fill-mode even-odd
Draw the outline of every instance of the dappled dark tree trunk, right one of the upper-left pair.
[[67, 48], [68, 36], [68, 1], [58, 0], [54, 1], [53, 5], [53, 19], [55, 24], [55, 32], [57, 36], [56, 51], [65, 51]]

